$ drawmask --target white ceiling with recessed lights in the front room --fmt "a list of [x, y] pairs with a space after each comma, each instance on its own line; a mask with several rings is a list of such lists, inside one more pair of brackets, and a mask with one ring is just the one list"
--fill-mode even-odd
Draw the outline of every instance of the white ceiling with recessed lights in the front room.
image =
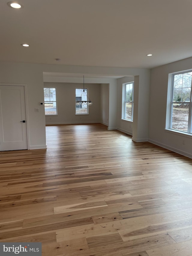
[[1, 61], [152, 68], [192, 56], [191, 0], [18, 0], [20, 10], [7, 2]]

